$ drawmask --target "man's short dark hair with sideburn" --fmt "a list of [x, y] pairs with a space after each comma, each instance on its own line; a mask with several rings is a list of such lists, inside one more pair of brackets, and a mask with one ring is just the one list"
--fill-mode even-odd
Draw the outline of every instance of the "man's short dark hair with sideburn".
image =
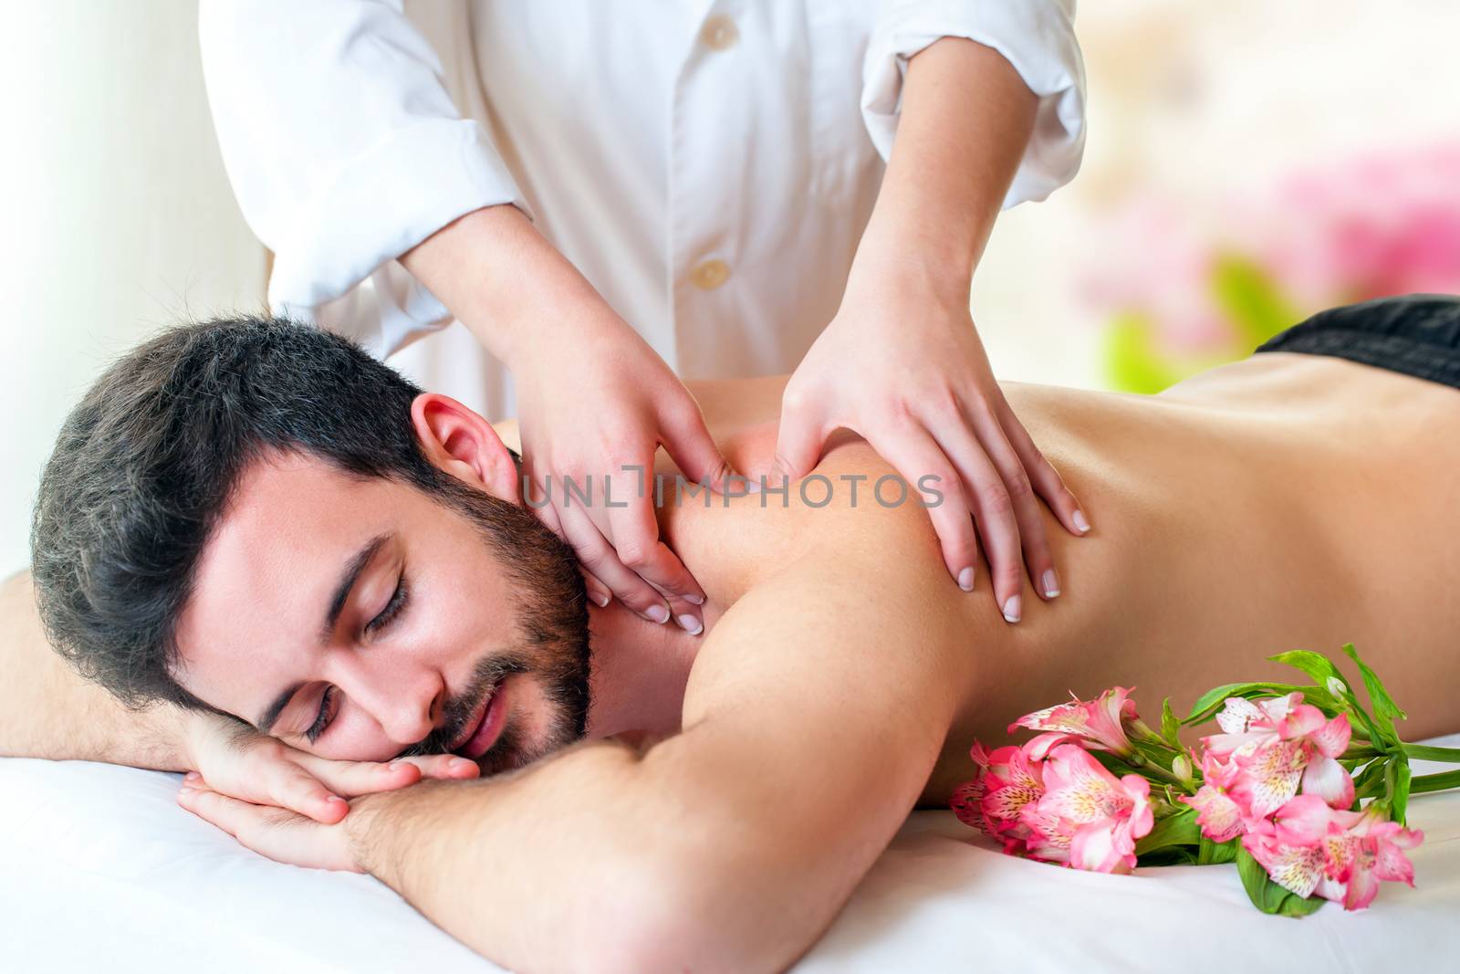
[[[41, 478], [31, 572], [51, 644], [127, 705], [212, 710], [172, 676], [175, 624], [239, 476], [293, 451], [450, 501], [463, 485], [420, 450], [419, 393], [349, 340], [274, 318], [187, 324], [133, 349], [66, 419]], [[483, 501], [508, 549], [531, 514]], [[552, 555], [581, 586], [571, 553]]]

